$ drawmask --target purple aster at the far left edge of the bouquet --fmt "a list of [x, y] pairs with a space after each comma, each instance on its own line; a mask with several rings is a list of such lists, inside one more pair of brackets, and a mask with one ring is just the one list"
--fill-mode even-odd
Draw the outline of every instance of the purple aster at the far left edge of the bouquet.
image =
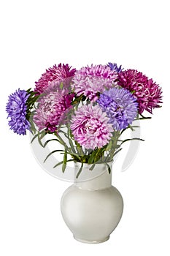
[[28, 97], [29, 94], [25, 90], [18, 89], [18, 91], [9, 95], [7, 102], [7, 118], [10, 118], [8, 124], [10, 129], [18, 135], [26, 135], [26, 129], [30, 128], [30, 124], [26, 120], [26, 102]]

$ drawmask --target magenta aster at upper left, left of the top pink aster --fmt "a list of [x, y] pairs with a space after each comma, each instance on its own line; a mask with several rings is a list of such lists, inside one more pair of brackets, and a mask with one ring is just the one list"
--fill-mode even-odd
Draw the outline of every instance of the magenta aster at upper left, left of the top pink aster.
[[76, 72], [76, 69], [71, 68], [72, 67], [69, 67], [69, 64], [58, 64], [58, 66], [54, 65], [53, 67], [46, 69], [46, 72], [42, 74], [42, 77], [36, 82], [34, 91], [37, 91], [38, 94], [42, 94], [45, 89], [49, 88], [51, 82], [60, 83], [63, 80], [70, 81]]

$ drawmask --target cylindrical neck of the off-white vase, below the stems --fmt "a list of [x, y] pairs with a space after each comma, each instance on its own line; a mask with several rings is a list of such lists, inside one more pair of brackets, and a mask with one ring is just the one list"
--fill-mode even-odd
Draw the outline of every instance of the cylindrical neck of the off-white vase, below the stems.
[[[75, 177], [77, 174], [77, 167], [80, 163], [75, 164]], [[112, 162], [109, 163], [112, 170]], [[78, 178], [74, 178], [74, 186], [79, 189], [98, 190], [106, 189], [112, 186], [112, 172], [109, 173], [106, 164], [96, 164], [93, 170], [90, 170], [91, 165], [84, 164], [82, 172]]]

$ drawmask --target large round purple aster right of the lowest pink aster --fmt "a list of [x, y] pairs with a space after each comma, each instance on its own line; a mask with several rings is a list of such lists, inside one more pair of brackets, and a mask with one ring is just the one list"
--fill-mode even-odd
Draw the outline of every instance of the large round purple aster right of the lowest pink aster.
[[97, 102], [107, 113], [109, 123], [115, 130], [127, 128], [136, 117], [138, 106], [136, 97], [126, 89], [112, 88], [104, 91]]

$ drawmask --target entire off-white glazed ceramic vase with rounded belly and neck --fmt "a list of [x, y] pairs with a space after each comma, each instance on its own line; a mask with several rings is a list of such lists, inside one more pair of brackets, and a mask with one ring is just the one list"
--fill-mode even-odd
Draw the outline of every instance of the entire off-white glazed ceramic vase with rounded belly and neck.
[[[109, 174], [107, 165], [97, 164], [93, 170], [89, 170], [90, 166], [83, 165], [80, 176], [85, 174], [85, 178], [75, 178], [74, 184], [63, 193], [61, 213], [75, 239], [101, 243], [109, 239], [120, 222], [123, 198], [112, 186], [112, 173]], [[79, 163], [75, 175], [78, 167]], [[91, 173], [93, 178], [90, 178]]]

